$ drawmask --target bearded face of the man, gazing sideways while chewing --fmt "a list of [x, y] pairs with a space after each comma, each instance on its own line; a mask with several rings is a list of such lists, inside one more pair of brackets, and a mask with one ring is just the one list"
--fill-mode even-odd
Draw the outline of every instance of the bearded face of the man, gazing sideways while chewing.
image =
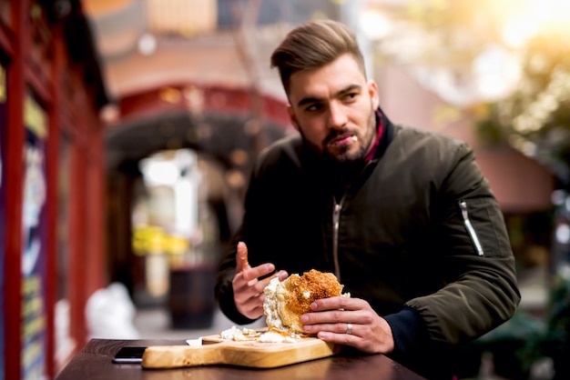
[[305, 141], [338, 162], [363, 159], [376, 138], [378, 87], [354, 58], [290, 76], [289, 115]]

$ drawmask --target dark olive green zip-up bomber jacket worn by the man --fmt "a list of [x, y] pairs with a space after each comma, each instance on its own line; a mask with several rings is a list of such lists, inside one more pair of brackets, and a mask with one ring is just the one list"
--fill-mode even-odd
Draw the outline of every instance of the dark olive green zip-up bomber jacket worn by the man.
[[392, 330], [412, 308], [431, 342], [470, 342], [514, 315], [514, 255], [473, 150], [381, 117], [375, 157], [336, 198], [335, 173], [299, 136], [260, 155], [243, 224], [220, 264], [216, 295], [230, 319], [251, 322], [233, 303], [238, 241], [248, 245], [250, 265], [335, 273], [352, 297], [396, 315]]

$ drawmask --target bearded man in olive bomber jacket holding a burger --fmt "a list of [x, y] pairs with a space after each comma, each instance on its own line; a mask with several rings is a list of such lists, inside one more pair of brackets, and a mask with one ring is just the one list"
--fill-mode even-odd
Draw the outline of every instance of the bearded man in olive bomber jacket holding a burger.
[[351, 297], [313, 303], [301, 316], [307, 333], [451, 378], [456, 348], [504, 323], [520, 300], [504, 220], [473, 151], [392, 125], [345, 25], [300, 25], [271, 65], [299, 135], [254, 167], [220, 264], [220, 308], [249, 324], [263, 315], [271, 277], [332, 272]]

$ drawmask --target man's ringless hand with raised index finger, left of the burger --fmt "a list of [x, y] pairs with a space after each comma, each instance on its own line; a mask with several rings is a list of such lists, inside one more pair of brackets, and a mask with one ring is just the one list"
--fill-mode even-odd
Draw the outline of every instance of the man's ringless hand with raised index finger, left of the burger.
[[[263, 315], [263, 301], [265, 295], [263, 289], [270, 283], [271, 278], [280, 277], [283, 281], [288, 277], [287, 272], [280, 271], [270, 275], [275, 271], [275, 265], [270, 263], [251, 267], [248, 263], [248, 247], [245, 243], [238, 243], [238, 253], [236, 255], [236, 275], [231, 285], [233, 286], [234, 302], [239, 313], [249, 319], [257, 319]], [[265, 275], [266, 278], [259, 279]]]

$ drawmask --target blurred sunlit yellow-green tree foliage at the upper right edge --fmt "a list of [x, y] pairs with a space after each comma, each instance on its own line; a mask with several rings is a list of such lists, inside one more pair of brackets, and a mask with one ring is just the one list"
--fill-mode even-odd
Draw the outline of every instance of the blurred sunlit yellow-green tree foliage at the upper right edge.
[[[485, 123], [570, 182], [570, 39], [537, 35], [524, 49], [523, 76], [514, 93], [492, 105]], [[526, 149], [531, 147], [530, 152]]]

